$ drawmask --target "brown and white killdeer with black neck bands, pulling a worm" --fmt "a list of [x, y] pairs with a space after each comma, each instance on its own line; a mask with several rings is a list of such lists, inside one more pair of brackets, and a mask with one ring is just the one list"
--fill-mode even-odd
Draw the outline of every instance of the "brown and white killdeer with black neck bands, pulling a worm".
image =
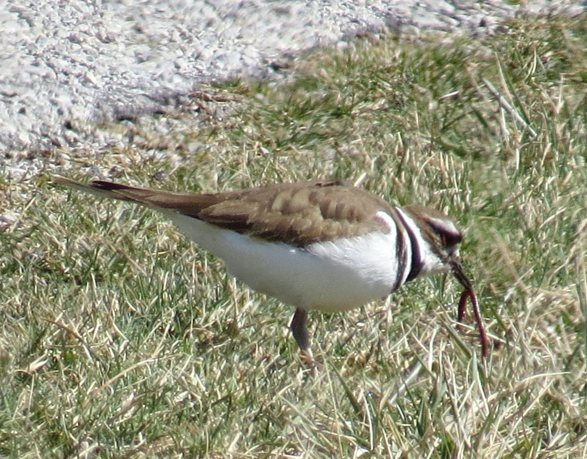
[[295, 306], [291, 331], [309, 350], [309, 309], [346, 311], [381, 299], [417, 277], [452, 272], [475, 309], [483, 355], [487, 338], [457, 245], [463, 232], [440, 211], [393, 207], [339, 181], [272, 184], [242, 191], [177, 194], [109, 181], [56, 183], [153, 208], [252, 289]]

